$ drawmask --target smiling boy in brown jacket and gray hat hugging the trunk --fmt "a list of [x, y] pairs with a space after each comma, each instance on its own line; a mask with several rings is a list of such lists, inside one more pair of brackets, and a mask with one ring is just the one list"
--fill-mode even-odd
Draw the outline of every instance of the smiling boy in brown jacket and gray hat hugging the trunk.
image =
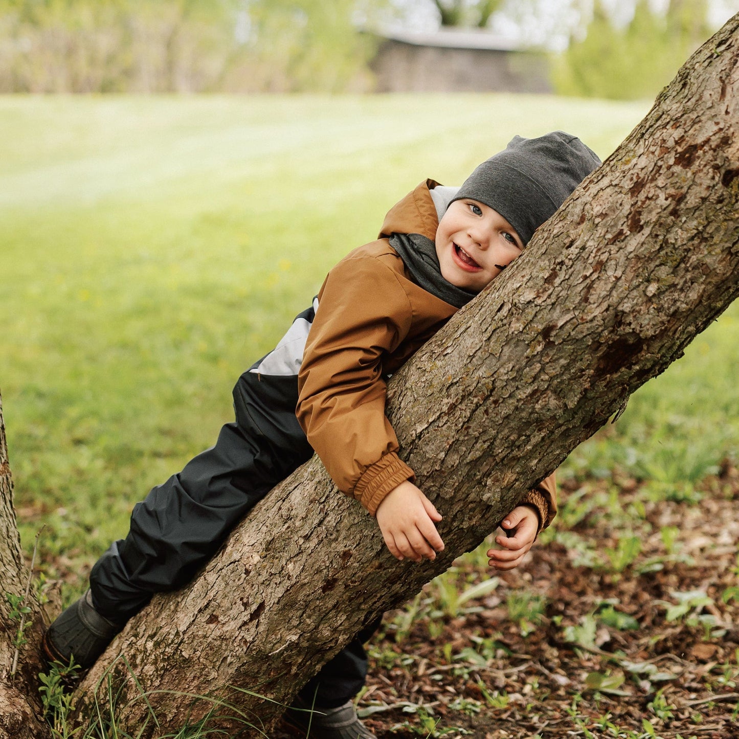
[[[515, 259], [536, 228], [597, 165], [579, 139], [514, 137], [461, 188], [422, 183], [387, 214], [380, 238], [330, 271], [312, 307], [234, 389], [236, 422], [179, 474], [154, 488], [90, 575], [90, 590], [51, 625], [52, 659], [92, 665], [123, 624], [160, 590], [185, 585], [264, 494], [315, 450], [334, 482], [375, 515], [398, 559], [434, 559], [441, 516], [398, 457], [384, 415], [386, 378]], [[514, 537], [488, 551], [516, 567], [556, 512], [554, 478], [503, 521]], [[357, 635], [299, 693], [314, 705], [311, 736], [369, 738], [351, 698], [364, 683]], [[307, 713], [286, 720], [303, 732]]]

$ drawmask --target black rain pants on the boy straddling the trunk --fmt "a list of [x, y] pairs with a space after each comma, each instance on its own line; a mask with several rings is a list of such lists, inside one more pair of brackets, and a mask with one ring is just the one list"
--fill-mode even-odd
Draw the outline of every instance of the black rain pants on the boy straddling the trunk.
[[[313, 449], [295, 416], [297, 395], [294, 375], [239, 378], [236, 423], [223, 426], [215, 446], [135, 505], [126, 539], [113, 542], [92, 568], [92, 600], [103, 616], [130, 619], [153, 593], [190, 582], [253, 505], [310, 459]], [[352, 698], [367, 676], [364, 641], [379, 624], [369, 624], [325, 664], [301, 697], [324, 708]]]

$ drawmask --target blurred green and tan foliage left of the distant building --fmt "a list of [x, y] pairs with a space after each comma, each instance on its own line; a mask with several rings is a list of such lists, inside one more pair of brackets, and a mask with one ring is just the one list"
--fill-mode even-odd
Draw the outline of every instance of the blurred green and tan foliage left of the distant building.
[[369, 86], [355, 0], [0, 0], [0, 92]]

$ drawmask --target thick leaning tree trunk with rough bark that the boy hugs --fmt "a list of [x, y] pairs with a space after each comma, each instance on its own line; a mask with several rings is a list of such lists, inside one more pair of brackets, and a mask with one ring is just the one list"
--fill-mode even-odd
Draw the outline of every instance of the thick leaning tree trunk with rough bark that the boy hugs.
[[[393, 378], [403, 456], [444, 520], [435, 562], [398, 562], [314, 458], [276, 487], [188, 588], [157, 596], [81, 686], [111, 674], [123, 726], [234, 700], [269, 726], [370, 620], [477, 546], [739, 293], [739, 16], [515, 265]], [[727, 370], [729, 368], [726, 368]], [[174, 691], [174, 692], [171, 692]]]

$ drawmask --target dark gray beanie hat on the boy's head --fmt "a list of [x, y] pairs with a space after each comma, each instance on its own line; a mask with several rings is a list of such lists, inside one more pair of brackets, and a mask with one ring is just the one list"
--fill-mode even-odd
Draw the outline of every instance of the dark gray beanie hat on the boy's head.
[[534, 231], [600, 163], [578, 137], [562, 131], [535, 139], [514, 136], [503, 151], [472, 172], [454, 200], [469, 197], [494, 208], [528, 244]]

